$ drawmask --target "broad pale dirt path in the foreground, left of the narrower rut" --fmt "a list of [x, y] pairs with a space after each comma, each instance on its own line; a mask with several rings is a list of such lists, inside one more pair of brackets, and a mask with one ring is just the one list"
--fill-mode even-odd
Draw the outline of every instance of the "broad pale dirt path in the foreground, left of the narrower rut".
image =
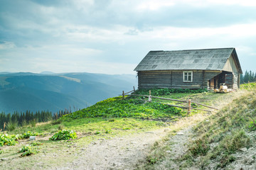
[[151, 145], [166, 135], [166, 128], [111, 140], [97, 140], [83, 148], [79, 159], [57, 169], [134, 169]]

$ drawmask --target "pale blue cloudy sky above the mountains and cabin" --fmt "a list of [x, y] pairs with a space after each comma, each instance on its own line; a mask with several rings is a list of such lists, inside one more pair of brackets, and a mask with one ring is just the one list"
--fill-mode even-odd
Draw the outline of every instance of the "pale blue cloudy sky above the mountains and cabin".
[[0, 1], [0, 72], [135, 74], [150, 50], [218, 47], [256, 72], [255, 46], [256, 1]]

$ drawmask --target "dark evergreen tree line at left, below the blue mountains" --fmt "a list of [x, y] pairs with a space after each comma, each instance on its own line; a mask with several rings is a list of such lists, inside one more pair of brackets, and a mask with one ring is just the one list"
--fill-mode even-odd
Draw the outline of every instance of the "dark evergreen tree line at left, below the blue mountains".
[[11, 113], [0, 113], [0, 131], [4, 130], [6, 125], [14, 124], [16, 126], [24, 126], [28, 124], [35, 123], [43, 123], [48, 122], [50, 120], [56, 120], [60, 118], [60, 116], [70, 113], [68, 109], [65, 111], [58, 111], [58, 113], [52, 113], [50, 111], [37, 111], [33, 113], [31, 111], [20, 112], [15, 111], [13, 114]]

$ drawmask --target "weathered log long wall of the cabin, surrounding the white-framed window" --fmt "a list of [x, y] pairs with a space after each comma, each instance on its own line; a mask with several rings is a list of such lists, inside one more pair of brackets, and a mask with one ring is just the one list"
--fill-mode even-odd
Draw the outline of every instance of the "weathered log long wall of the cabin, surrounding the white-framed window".
[[139, 89], [210, 89], [209, 80], [221, 71], [193, 71], [193, 81], [183, 82], [183, 72], [188, 70], [139, 71]]

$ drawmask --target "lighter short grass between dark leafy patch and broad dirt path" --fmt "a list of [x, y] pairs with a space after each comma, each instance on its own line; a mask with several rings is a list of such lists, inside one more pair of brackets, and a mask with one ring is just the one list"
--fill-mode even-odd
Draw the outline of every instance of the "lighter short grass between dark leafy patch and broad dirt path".
[[[65, 129], [77, 132], [79, 140], [70, 142], [50, 141], [53, 133], [58, 132], [58, 126], [65, 125]], [[31, 132], [44, 132], [46, 137], [37, 137], [43, 145], [40, 146], [40, 152], [28, 157], [20, 158], [19, 149], [23, 145], [28, 145], [28, 140], [20, 140], [17, 145], [11, 147], [0, 147], [3, 150], [1, 157], [11, 160], [11, 166], [8, 161], [1, 162], [0, 169], [33, 169], [38, 166], [40, 160], [41, 169], [49, 169], [50, 166], [63, 166], [78, 158], [75, 153], [81, 152], [82, 148], [87, 147], [92, 141], [99, 139], [110, 139], [111, 137], [121, 137], [124, 135], [136, 135], [139, 132], [146, 132], [158, 128], [169, 126], [169, 123], [163, 123], [156, 120], [142, 120], [135, 118], [80, 118], [70, 120], [61, 124], [53, 125], [47, 123], [29, 128]], [[26, 132], [28, 128], [19, 128], [18, 133]], [[13, 133], [14, 131], [12, 131]], [[51, 135], [49, 133], [51, 132]], [[25, 164], [26, 162], [26, 164]], [[48, 166], [50, 165], [50, 166]]]

